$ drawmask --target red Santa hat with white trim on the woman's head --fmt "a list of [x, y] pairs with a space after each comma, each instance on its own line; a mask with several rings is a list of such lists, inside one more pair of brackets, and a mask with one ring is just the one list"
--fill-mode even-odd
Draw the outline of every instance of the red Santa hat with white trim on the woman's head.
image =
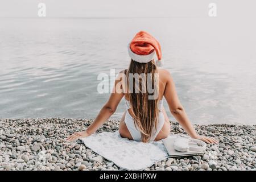
[[132, 60], [138, 63], [148, 63], [157, 56], [156, 65], [162, 66], [161, 46], [152, 35], [146, 31], [138, 32], [130, 44], [128, 44], [128, 53]]

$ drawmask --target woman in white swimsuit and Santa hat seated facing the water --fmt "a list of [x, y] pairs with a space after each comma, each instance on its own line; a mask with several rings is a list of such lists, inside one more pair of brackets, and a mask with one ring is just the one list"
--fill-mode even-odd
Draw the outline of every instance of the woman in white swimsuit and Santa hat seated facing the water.
[[[119, 123], [119, 134], [123, 138], [149, 142], [168, 137], [171, 126], [163, 107], [165, 98], [172, 115], [190, 137], [207, 143], [218, 143], [214, 138], [196, 133], [177, 97], [171, 74], [156, 67], [162, 58], [159, 42], [147, 32], [140, 31], [129, 44], [128, 52], [131, 57], [129, 69], [119, 73], [109, 101], [86, 131], [74, 133], [67, 140], [72, 141], [93, 134], [109, 119], [125, 97], [126, 111]], [[156, 63], [155, 54], [158, 59]], [[151, 89], [148, 89], [149, 85]]]

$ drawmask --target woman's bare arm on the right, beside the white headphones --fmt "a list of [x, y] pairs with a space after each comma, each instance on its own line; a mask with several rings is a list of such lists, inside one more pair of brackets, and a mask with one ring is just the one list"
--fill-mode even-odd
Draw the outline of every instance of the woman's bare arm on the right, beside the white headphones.
[[164, 91], [164, 97], [168, 103], [169, 109], [183, 129], [189, 134], [190, 137], [203, 140], [207, 143], [218, 143], [218, 141], [214, 138], [209, 137], [202, 137], [196, 133], [196, 130], [192, 126], [191, 122], [189, 121], [187, 114], [185, 113], [185, 109], [181, 105], [179, 98], [176, 93], [174, 80], [170, 72], [166, 71], [167, 83], [166, 89]]

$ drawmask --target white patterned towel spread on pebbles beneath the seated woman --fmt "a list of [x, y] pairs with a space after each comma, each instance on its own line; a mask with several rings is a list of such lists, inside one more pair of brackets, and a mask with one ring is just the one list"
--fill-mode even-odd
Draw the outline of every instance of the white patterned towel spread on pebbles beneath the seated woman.
[[136, 142], [122, 138], [118, 131], [97, 133], [81, 140], [86, 147], [127, 170], [141, 170], [168, 158], [162, 141]]

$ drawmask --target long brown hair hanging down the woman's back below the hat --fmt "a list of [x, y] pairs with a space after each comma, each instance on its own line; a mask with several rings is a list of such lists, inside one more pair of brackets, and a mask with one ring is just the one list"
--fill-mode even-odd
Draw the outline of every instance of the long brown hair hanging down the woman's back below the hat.
[[[146, 76], [146, 88], [148, 88], [148, 79], [151, 81], [151, 88], [154, 90], [158, 90], [158, 80], [156, 79], [155, 73], [157, 72], [156, 64], [154, 60], [151, 60], [149, 63], [138, 63], [134, 60], [131, 60], [129, 69], [126, 70], [126, 76], [129, 80], [129, 74], [144, 73]], [[148, 74], [151, 73], [151, 74]], [[157, 84], [156, 84], [157, 82]], [[127, 85], [133, 84], [133, 88], [136, 87], [135, 82], [128, 81]], [[145, 82], [144, 82], [145, 84]], [[158, 125], [158, 102], [159, 98], [148, 99], [151, 93], [148, 93], [148, 89], [142, 90], [142, 87], [145, 86], [143, 81], [139, 79], [139, 85], [137, 85], [137, 89], [139, 89], [139, 93], [134, 92], [134, 90], [130, 90], [130, 86], [128, 86], [127, 97], [130, 102], [131, 108], [131, 116], [134, 119], [136, 128], [141, 131], [141, 139], [142, 142], [148, 142], [154, 132], [156, 131], [156, 126]], [[142, 92], [143, 91], [143, 92]], [[158, 91], [157, 91], [158, 92]]]

